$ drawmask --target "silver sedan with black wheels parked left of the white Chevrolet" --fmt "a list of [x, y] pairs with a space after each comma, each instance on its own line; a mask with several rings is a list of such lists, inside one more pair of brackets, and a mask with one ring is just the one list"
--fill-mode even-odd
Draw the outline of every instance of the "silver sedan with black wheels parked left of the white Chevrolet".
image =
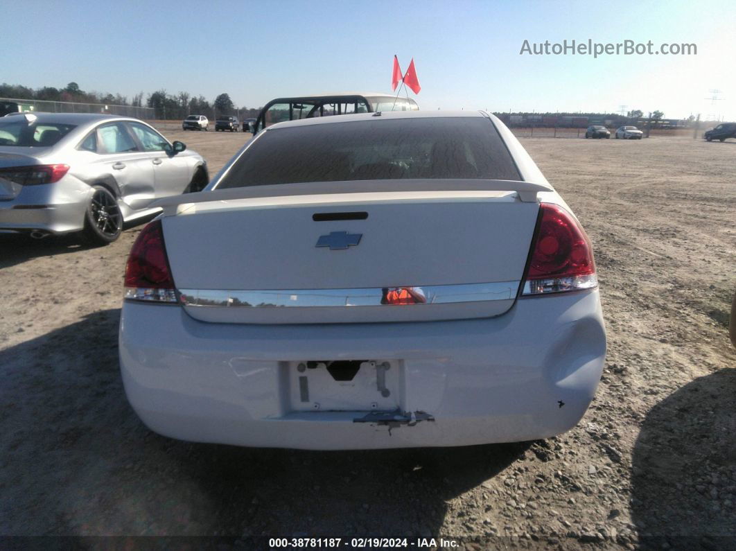
[[0, 232], [85, 232], [115, 241], [162, 197], [199, 191], [201, 155], [135, 118], [26, 113], [0, 118]]

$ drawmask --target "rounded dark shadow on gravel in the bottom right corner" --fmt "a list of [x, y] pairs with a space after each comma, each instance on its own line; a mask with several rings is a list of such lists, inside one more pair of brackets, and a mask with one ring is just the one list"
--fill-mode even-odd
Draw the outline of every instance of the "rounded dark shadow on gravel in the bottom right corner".
[[736, 549], [736, 369], [700, 377], [646, 416], [631, 517], [656, 549]]

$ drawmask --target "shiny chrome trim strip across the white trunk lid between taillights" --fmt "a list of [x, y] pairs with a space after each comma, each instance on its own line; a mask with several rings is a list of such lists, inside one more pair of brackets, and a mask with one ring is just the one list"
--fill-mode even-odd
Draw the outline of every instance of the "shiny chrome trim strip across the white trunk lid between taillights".
[[[227, 291], [216, 289], [180, 289], [185, 306], [225, 308], [336, 308], [340, 306], [396, 306], [386, 302], [384, 293], [406, 289], [415, 302], [408, 305], [489, 302], [514, 299], [520, 281], [470, 283], [467, 285], [424, 285], [422, 287], [293, 289], [263, 291]], [[406, 294], [405, 294], [406, 295]], [[424, 302], [422, 302], [422, 296]]]

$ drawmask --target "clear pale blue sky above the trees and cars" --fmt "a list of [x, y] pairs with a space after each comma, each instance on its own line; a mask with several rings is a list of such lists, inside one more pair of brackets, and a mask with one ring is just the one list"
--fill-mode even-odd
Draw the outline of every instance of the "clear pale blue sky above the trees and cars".
[[[0, 81], [32, 88], [73, 80], [129, 99], [160, 88], [210, 100], [227, 92], [238, 106], [259, 107], [277, 96], [391, 92], [398, 54], [404, 70], [414, 57], [422, 109], [623, 104], [736, 119], [734, 0], [27, 0], [2, 11]], [[524, 40], [589, 38], [695, 43], [698, 54], [520, 55]], [[713, 88], [723, 101], [705, 99]]]

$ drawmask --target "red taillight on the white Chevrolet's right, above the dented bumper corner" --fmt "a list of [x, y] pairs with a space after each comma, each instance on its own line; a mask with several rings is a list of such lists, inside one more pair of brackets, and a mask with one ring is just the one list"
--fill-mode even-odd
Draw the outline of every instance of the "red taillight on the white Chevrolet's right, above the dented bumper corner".
[[598, 285], [588, 236], [570, 213], [542, 203], [542, 218], [531, 242], [522, 294], [559, 293]]

